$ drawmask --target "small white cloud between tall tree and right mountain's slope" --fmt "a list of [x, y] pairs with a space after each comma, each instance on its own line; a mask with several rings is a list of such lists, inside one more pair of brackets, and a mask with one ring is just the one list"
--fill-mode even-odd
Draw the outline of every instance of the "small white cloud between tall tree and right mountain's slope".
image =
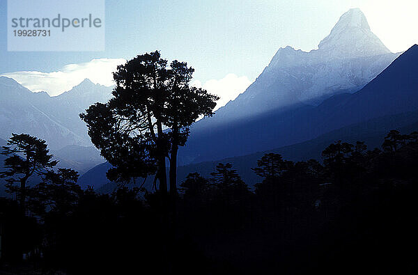
[[209, 93], [221, 97], [217, 101], [215, 110], [225, 106], [230, 100], [235, 100], [240, 93], [243, 93], [251, 81], [247, 77], [238, 77], [236, 74], [227, 74], [223, 79], [211, 79], [204, 84], [199, 80], [194, 80], [192, 85], [197, 88], [204, 88]]

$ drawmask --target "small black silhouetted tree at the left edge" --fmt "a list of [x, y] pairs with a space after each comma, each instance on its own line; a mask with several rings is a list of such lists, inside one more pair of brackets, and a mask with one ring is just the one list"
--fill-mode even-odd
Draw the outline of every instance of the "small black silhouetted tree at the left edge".
[[[49, 155], [47, 143], [42, 139], [29, 134], [12, 134], [7, 146], [3, 146], [2, 155], [8, 156], [4, 160], [7, 171], [0, 176], [6, 178], [8, 192], [17, 194], [20, 198], [20, 206], [26, 212], [26, 186], [27, 180], [32, 175], [43, 175], [48, 168], [54, 167], [58, 162], [52, 160]], [[19, 187], [15, 183], [20, 183]]]

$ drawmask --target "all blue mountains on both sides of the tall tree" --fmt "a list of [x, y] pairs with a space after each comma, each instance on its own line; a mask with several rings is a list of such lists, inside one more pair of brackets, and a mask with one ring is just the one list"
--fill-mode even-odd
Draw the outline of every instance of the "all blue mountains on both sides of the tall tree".
[[[57, 97], [32, 93], [0, 77], [0, 138], [25, 132], [45, 139], [62, 166], [84, 173], [102, 162], [78, 114], [106, 102], [111, 87], [87, 79]], [[208, 175], [233, 162], [245, 180], [263, 152], [293, 160], [320, 155], [336, 139], [378, 146], [389, 129], [418, 127], [418, 46], [394, 54], [371, 32], [359, 9], [341, 16], [318, 49], [279, 49], [256, 81], [232, 102], [192, 126], [180, 148], [178, 179]], [[219, 159], [221, 159], [219, 161]], [[83, 187], [107, 181], [109, 164], [80, 178]], [[249, 173], [251, 172], [251, 173]], [[251, 178], [252, 177], [252, 178]]]

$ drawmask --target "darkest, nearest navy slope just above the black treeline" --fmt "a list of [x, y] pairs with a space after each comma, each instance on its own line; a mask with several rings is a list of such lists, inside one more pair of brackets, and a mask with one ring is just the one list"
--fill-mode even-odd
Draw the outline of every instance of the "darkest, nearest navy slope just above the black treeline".
[[[356, 123], [341, 129], [336, 129], [328, 132], [316, 139], [304, 141], [292, 146], [285, 146], [281, 148], [274, 148], [264, 152], [255, 152], [251, 155], [241, 157], [229, 157], [225, 159], [218, 159], [213, 162], [201, 162], [199, 164], [189, 164], [187, 166], [178, 167], [178, 181], [185, 180], [189, 173], [200, 173], [206, 178], [210, 178], [210, 173], [215, 169], [216, 164], [231, 163], [233, 168], [237, 169], [238, 173], [247, 184], [254, 186], [260, 180], [258, 176], [251, 170], [256, 167], [257, 160], [266, 152], [274, 152], [283, 155], [285, 159], [293, 160], [294, 162], [308, 159], [320, 160], [321, 152], [334, 141], [347, 141], [355, 143], [356, 141], [365, 141], [369, 149], [377, 148], [382, 145], [382, 142], [389, 130], [398, 129], [403, 133], [410, 133], [418, 130], [418, 111], [396, 114], [392, 116], [384, 116], [380, 118], [373, 118], [366, 122]], [[106, 178], [107, 170], [111, 168], [108, 163], [95, 166], [81, 178], [79, 183], [82, 187], [87, 185], [95, 186], [95, 189], [100, 191], [111, 191], [115, 184], [108, 184], [109, 180]], [[107, 184], [102, 187], [103, 184]], [[148, 184], [150, 186], [150, 184]]]

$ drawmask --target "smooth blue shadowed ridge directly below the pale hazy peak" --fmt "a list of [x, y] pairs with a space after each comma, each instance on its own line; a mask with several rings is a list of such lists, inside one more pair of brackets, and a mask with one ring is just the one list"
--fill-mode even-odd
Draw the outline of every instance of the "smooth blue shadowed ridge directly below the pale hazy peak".
[[333, 95], [317, 107], [299, 105], [191, 133], [180, 163], [247, 155], [314, 139], [371, 118], [418, 109], [418, 46], [353, 94]]

